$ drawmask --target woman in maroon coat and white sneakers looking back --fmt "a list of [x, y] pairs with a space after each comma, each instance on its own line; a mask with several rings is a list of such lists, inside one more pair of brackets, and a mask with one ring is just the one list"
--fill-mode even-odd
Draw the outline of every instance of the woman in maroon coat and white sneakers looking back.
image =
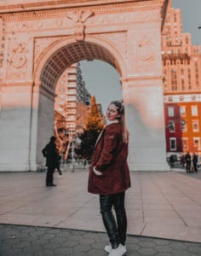
[[125, 190], [130, 187], [127, 163], [129, 132], [123, 103], [111, 102], [106, 110], [106, 119], [108, 124], [100, 132], [92, 154], [88, 191], [99, 195], [100, 213], [110, 241], [105, 251], [109, 256], [121, 256], [127, 251], [124, 199]]

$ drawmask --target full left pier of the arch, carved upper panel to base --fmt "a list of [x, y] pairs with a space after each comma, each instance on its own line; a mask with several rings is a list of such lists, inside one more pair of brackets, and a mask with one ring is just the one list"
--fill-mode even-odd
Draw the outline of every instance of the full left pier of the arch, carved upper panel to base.
[[8, 31], [3, 45], [0, 171], [31, 171], [33, 38]]

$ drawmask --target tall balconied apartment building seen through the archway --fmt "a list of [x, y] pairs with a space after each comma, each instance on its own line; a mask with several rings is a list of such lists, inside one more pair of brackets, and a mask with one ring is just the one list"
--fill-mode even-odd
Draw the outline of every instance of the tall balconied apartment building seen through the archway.
[[88, 110], [90, 95], [85, 87], [79, 63], [68, 67], [60, 76], [55, 93], [56, 124], [60, 123], [57, 120], [58, 113], [60, 113], [66, 122], [63, 128], [68, 131], [81, 129], [84, 123], [84, 113], [86, 114]]

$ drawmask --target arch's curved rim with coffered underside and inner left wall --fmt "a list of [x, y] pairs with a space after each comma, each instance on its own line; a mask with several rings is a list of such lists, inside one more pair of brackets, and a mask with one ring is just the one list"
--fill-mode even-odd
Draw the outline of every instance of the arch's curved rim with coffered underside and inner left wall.
[[37, 112], [32, 112], [32, 142], [36, 143], [32, 146], [32, 158], [37, 159], [35, 169], [43, 166], [41, 148], [54, 131], [55, 85], [67, 67], [83, 60], [106, 61], [118, 70], [121, 77], [126, 74], [126, 65], [118, 49], [98, 36], [87, 37], [84, 41], [76, 41], [74, 37], [61, 39], [43, 51], [33, 76], [37, 91], [37, 94], [32, 94], [32, 102], [37, 106]]

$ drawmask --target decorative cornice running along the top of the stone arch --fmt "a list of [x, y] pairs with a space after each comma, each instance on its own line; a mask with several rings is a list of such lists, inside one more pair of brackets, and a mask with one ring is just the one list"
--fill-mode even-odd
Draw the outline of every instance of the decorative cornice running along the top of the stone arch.
[[[71, 8], [62, 8], [59, 9], [42, 9], [42, 10], [29, 10], [29, 11], [14, 11], [12, 13], [6, 13], [1, 11], [0, 9], [0, 17], [3, 20], [34, 20], [40, 18], [55, 18], [60, 16], [66, 17], [69, 11], [88, 11], [94, 12], [95, 14], [104, 14], [104, 13], [123, 13], [123, 12], [135, 12], [139, 10], [148, 10], [148, 9], [162, 9], [164, 0], [144, 0], [144, 1], [129, 1], [128, 3], [107, 3], [97, 6], [94, 4], [93, 6], [84, 7], [82, 5], [73, 6]], [[57, 5], [58, 6], [58, 5]], [[0, 7], [1, 8], [1, 7]]]

